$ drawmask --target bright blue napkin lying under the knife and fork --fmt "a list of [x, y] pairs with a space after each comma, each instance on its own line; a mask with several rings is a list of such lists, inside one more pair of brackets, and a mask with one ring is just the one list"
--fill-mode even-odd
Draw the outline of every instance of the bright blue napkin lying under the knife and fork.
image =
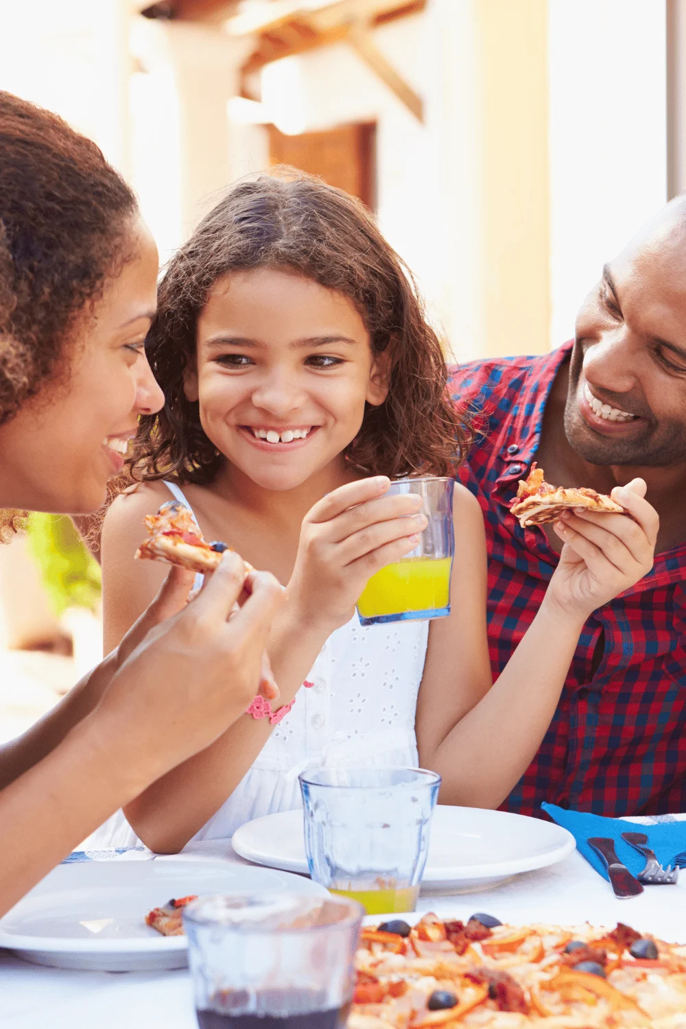
[[638, 876], [646, 866], [646, 859], [630, 844], [624, 843], [622, 832], [645, 832], [648, 837], [647, 846], [655, 851], [655, 857], [663, 868], [671, 864], [674, 857], [686, 850], [686, 820], [660, 821], [656, 825], [646, 825], [645, 822], [631, 822], [624, 818], [604, 818], [603, 815], [592, 815], [585, 811], [568, 811], [555, 804], [541, 805], [553, 821], [569, 829], [576, 840], [577, 849], [589, 864], [600, 872], [609, 882], [605, 862], [586, 843], [588, 837], [611, 837], [615, 843], [615, 852], [622, 864]]

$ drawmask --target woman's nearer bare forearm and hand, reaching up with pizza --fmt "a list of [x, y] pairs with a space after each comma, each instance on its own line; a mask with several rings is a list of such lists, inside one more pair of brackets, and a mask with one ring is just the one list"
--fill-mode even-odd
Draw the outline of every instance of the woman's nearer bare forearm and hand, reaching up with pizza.
[[[96, 707], [47, 753], [17, 748], [0, 791], [0, 915], [118, 807], [177, 761], [212, 744], [255, 695], [283, 591], [226, 555], [193, 604], [150, 630]], [[39, 738], [40, 741], [41, 738]], [[42, 737], [43, 743], [47, 736]]]

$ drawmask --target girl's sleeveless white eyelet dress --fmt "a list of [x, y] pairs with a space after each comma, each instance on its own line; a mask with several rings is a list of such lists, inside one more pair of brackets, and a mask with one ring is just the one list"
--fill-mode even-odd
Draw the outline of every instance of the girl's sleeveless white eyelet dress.
[[[250, 771], [193, 839], [229, 838], [253, 818], [299, 808], [297, 777], [306, 769], [417, 767], [414, 711], [428, 633], [428, 622], [363, 627], [357, 614], [336, 629], [308, 675], [312, 686], [298, 689]], [[121, 812], [88, 840], [102, 848], [137, 843]]]

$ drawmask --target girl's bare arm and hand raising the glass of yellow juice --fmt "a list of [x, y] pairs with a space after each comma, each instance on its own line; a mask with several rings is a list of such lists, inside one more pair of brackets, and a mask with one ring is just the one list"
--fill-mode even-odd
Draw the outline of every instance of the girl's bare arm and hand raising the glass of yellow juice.
[[[351, 618], [369, 576], [417, 545], [413, 534], [426, 526], [423, 516], [414, 521], [421, 501], [406, 495], [384, 496], [389, 485], [383, 476], [350, 483], [315, 504], [303, 521], [286, 604], [269, 634], [280, 705], [294, 698], [323, 644]], [[118, 498], [105, 519], [103, 608], [108, 645], [116, 642], [155, 588], [144, 567], [154, 568], [154, 562], [134, 561], [133, 554], [143, 516], [156, 510], [159, 502], [153, 488], [143, 487]], [[211, 747], [153, 783], [124, 809], [137, 836], [157, 852], [181, 850], [230, 796], [272, 730], [268, 718], [244, 714]]]

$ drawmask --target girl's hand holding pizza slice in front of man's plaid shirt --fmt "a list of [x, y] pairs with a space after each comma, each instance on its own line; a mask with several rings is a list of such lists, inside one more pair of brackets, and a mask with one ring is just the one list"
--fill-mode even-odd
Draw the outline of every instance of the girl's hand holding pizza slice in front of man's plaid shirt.
[[631, 518], [578, 508], [561, 514], [553, 528], [565, 546], [546, 600], [585, 622], [650, 571], [659, 519], [645, 493], [642, 478], [612, 491], [612, 499]]

